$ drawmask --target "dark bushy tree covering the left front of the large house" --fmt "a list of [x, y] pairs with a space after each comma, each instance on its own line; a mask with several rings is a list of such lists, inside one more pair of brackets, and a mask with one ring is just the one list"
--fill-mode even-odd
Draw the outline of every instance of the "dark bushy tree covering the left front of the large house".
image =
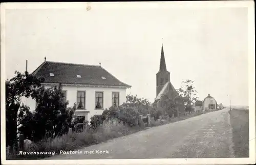
[[[67, 107], [68, 101], [64, 101], [61, 84], [52, 89], [45, 89], [44, 86], [34, 90], [31, 94], [38, 105], [32, 114], [26, 116], [29, 120], [24, 120], [23, 130], [30, 129], [27, 135], [34, 141], [44, 139], [44, 137], [54, 138], [68, 132], [72, 127], [72, 119], [76, 109]], [[29, 134], [31, 133], [31, 134]]]

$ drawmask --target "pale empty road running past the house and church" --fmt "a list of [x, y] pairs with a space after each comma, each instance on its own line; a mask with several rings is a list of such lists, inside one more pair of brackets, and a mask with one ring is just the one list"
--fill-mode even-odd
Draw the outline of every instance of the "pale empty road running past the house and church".
[[106, 143], [76, 150], [80, 154], [61, 154], [46, 159], [234, 157], [228, 110], [223, 109], [152, 127]]

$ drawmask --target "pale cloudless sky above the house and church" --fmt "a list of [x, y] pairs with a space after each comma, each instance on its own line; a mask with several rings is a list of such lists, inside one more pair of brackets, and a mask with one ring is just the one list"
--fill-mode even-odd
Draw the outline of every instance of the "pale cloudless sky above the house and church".
[[[6, 10], [6, 78], [47, 61], [99, 65], [154, 101], [161, 44], [170, 81], [198, 97], [248, 105], [247, 8], [97, 7]], [[228, 96], [229, 95], [229, 96]]]

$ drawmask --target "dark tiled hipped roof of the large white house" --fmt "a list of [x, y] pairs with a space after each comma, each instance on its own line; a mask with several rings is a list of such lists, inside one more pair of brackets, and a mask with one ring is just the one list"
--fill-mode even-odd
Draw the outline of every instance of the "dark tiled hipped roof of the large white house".
[[[54, 76], [50, 76], [50, 73]], [[131, 87], [97, 65], [45, 61], [32, 74], [44, 77], [45, 82], [50, 83]]]

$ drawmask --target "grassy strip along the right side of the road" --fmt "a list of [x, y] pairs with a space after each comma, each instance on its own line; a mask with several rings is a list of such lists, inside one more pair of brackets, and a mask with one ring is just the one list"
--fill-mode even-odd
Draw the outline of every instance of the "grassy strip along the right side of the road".
[[236, 157], [249, 157], [249, 111], [232, 109], [229, 114], [234, 154]]

